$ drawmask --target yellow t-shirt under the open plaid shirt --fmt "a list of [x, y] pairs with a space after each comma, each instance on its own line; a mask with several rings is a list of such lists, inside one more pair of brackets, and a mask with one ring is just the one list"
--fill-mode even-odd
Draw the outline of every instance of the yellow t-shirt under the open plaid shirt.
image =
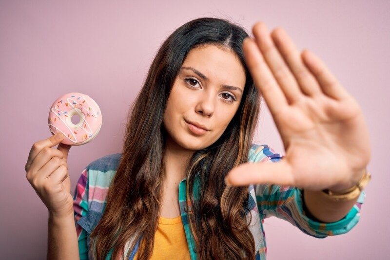
[[[134, 260], [137, 260], [137, 255], [138, 252]], [[158, 220], [151, 260], [166, 259], [191, 259], [181, 216], [172, 219], [160, 217]]]

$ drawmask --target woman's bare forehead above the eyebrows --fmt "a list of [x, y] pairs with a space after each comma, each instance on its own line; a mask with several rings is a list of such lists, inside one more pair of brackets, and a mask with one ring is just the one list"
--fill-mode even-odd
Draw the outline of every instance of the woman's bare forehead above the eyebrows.
[[244, 89], [244, 67], [234, 51], [228, 48], [210, 44], [195, 47], [188, 53], [182, 66], [195, 68], [216, 84], [228, 84]]

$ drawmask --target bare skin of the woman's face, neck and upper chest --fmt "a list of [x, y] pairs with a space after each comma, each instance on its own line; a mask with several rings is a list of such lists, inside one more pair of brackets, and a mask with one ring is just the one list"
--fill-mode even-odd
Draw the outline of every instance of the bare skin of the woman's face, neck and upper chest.
[[[183, 67], [194, 68], [207, 79]], [[161, 216], [167, 218], [180, 215], [178, 184], [185, 177], [188, 159], [195, 150], [213, 144], [225, 131], [239, 107], [246, 81], [244, 67], [234, 52], [215, 45], [192, 49], [182, 68], [176, 76], [163, 119], [168, 133], [164, 172], [168, 174]], [[239, 90], [228, 90], [222, 85]], [[204, 125], [209, 131], [195, 135], [184, 118]]]

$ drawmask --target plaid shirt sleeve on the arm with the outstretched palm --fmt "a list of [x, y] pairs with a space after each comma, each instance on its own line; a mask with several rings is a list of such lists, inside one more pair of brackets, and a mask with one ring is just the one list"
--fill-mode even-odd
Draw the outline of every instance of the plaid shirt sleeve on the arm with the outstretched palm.
[[[254, 152], [254, 162], [275, 163], [283, 156], [275, 153], [268, 145], [259, 146]], [[360, 207], [366, 197], [362, 191], [356, 204], [341, 220], [323, 223], [308, 217], [304, 211], [302, 189], [274, 184], [255, 185], [257, 206], [263, 219], [275, 216], [298, 227], [303, 233], [316, 238], [325, 238], [347, 233], [360, 219]]]

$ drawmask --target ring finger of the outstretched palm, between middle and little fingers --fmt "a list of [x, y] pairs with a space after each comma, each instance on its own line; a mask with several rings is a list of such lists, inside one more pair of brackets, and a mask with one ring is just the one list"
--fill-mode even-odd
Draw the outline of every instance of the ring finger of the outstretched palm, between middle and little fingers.
[[282, 28], [276, 28], [273, 30], [271, 37], [289, 65], [302, 92], [310, 96], [322, 94], [321, 87], [303, 63], [297, 47], [286, 31]]

